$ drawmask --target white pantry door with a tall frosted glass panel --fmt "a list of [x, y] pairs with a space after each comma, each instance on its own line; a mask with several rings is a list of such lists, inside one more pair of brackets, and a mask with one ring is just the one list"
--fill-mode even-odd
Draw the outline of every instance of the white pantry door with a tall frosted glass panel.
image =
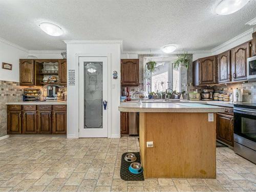
[[79, 57], [79, 137], [108, 137], [107, 57]]

